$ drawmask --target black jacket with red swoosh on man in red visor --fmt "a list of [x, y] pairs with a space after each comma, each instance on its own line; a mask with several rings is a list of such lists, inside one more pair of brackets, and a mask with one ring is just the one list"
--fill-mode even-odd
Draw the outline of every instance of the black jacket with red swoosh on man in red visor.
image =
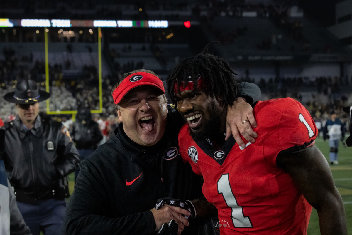
[[[66, 210], [67, 234], [156, 234], [150, 210], [158, 198], [202, 197], [201, 178], [178, 153], [182, 120], [172, 120], [175, 115], [169, 112], [164, 136], [155, 146], [134, 143], [120, 123], [109, 140], [81, 162]], [[212, 220], [208, 222], [214, 230]], [[182, 234], [205, 235], [205, 225], [205, 219], [196, 218]]]

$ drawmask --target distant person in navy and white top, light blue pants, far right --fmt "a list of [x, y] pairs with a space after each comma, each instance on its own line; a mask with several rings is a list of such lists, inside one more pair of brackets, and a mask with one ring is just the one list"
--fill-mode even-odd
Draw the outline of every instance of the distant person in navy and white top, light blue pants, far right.
[[338, 118], [335, 111], [331, 112], [330, 119], [326, 120], [323, 129], [323, 139], [329, 140], [330, 153], [329, 159], [331, 165], [338, 165], [338, 151], [340, 140], [343, 141], [345, 138], [345, 125]]

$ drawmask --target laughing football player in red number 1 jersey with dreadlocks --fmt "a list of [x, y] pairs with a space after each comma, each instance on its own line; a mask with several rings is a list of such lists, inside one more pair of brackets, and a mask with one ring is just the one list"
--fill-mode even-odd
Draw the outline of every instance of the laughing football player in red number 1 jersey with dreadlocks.
[[347, 234], [341, 196], [301, 103], [258, 101], [256, 141], [245, 141], [245, 148], [231, 136], [225, 141], [227, 105], [238, 85], [228, 63], [208, 47], [176, 66], [167, 85], [187, 122], [178, 135], [181, 155], [204, 179], [202, 192], [218, 209], [220, 234], [307, 234], [312, 206], [321, 234]]

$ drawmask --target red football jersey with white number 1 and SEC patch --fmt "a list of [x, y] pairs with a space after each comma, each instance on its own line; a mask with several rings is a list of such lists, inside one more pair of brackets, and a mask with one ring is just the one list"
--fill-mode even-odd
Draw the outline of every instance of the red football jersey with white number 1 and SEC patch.
[[276, 156], [314, 144], [314, 121], [291, 98], [259, 101], [254, 117], [258, 137], [243, 150], [232, 136], [220, 149], [195, 142], [185, 124], [178, 135], [181, 155], [204, 178], [202, 192], [218, 209], [220, 234], [307, 234], [312, 206], [277, 167]]

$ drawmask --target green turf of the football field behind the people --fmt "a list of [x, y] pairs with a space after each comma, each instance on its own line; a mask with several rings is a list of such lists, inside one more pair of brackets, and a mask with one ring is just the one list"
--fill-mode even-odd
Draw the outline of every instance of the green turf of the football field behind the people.
[[[316, 139], [315, 144], [329, 161], [330, 148], [328, 141], [323, 141], [323, 138], [319, 136]], [[336, 187], [342, 196], [342, 200], [344, 201], [348, 234], [352, 234], [352, 147], [345, 147], [342, 142], [340, 142], [338, 161], [339, 165], [331, 166], [331, 171]], [[70, 193], [73, 192], [74, 183], [74, 173], [72, 173], [69, 175]], [[319, 234], [318, 214], [316, 210], [313, 209], [308, 226], [308, 235]]]

